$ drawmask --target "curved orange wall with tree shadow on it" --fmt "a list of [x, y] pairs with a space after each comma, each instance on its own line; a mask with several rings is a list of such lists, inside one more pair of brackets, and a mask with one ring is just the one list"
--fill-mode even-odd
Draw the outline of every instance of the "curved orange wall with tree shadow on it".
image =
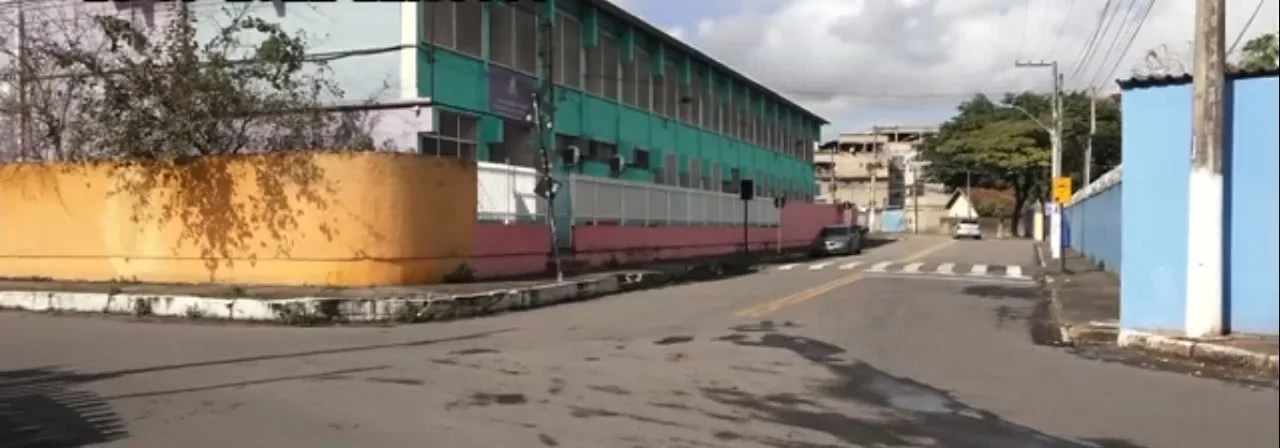
[[297, 152], [148, 166], [0, 165], [0, 276], [411, 284], [474, 251], [471, 163]]

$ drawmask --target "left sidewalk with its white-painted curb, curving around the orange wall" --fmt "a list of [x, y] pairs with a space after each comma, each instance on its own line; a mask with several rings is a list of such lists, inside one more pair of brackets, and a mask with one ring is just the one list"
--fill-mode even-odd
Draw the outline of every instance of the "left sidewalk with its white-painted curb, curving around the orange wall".
[[[0, 279], [0, 310], [216, 319], [284, 325], [424, 323], [527, 310], [672, 283], [753, 273], [795, 252], [722, 255], [605, 271], [454, 284], [280, 287]], [[746, 261], [746, 262], [744, 262]]]

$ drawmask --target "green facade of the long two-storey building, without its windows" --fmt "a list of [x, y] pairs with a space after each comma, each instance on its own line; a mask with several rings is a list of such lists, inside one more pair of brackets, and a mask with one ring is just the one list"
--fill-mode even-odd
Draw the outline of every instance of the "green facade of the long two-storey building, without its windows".
[[[591, 47], [599, 42], [599, 32], [620, 36], [620, 58], [623, 63], [635, 54], [634, 49], [644, 49], [650, 55], [675, 56], [678, 61], [677, 74], [664, 72], [664, 64], [654, 64], [654, 76], [667, 74], [667, 79], [678, 79], [682, 86], [690, 83], [690, 73], [699, 72], [704, 88], [713, 92], [719, 101], [737, 97], [739, 104], [751, 114], [787, 127], [797, 138], [805, 142], [817, 141], [824, 120], [814, 114], [787, 102], [776, 93], [767, 91], [737, 73], [695, 55], [685, 54], [680, 45], [650, 26], [623, 18], [623, 14], [611, 13], [611, 6], [595, 6], [590, 0], [550, 0], [538, 5], [540, 20], [553, 17], [553, 12], [568, 14], [581, 23], [582, 46]], [[421, 3], [419, 4], [421, 8]], [[502, 119], [489, 111], [489, 61], [492, 45], [488, 27], [493, 8], [509, 8], [484, 3], [484, 54], [476, 58], [447, 47], [422, 42], [425, 50], [419, 51], [419, 96], [431, 97], [436, 105], [458, 113], [480, 118], [479, 160], [489, 160], [488, 143], [503, 141]], [[532, 8], [532, 6], [530, 6]], [[428, 36], [431, 27], [430, 13], [417, 14], [421, 36]], [[552, 22], [554, 23], [554, 22]], [[559, 51], [559, 50], [558, 50]], [[584, 50], [584, 55], [585, 55]], [[585, 56], [584, 56], [585, 58]], [[545, 67], [539, 61], [539, 67]], [[434, 77], [434, 79], [433, 79]], [[652, 88], [650, 88], [652, 91]], [[732, 169], [740, 169], [746, 178], [767, 182], [777, 191], [785, 191], [794, 197], [812, 197], [814, 177], [812, 150], [799, 155], [788, 155], [776, 148], [768, 148], [726, 134], [699, 128], [680, 119], [663, 116], [658, 113], [641, 110], [620, 100], [588, 93], [584, 90], [557, 86], [556, 88], [554, 132], [616, 145], [618, 154], [627, 160], [637, 147], [650, 151], [650, 169], [627, 169], [620, 177], [631, 180], [653, 182], [654, 173], [664, 169], [666, 154], [675, 154], [680, 173], [687, 173], [695, 157], [703, 173], [689, 173], [694, 177], [710, 175], [712, 164], [718, 164], [721, 179], [728, 179]], [[746, 101], [742, 101], [746, 99]], [[580, 168], [590, 175], [609, 175], [605, 163], [586, 160]]]

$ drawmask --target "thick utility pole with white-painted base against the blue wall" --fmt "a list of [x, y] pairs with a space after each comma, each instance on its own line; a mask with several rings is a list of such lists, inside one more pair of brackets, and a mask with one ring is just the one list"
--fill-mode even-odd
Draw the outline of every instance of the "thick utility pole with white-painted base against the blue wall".
[[1225, 15], [1225, 0], [1196, 1], [1185, 310], [1185, 332], [1193, 338], [1222, 334]]

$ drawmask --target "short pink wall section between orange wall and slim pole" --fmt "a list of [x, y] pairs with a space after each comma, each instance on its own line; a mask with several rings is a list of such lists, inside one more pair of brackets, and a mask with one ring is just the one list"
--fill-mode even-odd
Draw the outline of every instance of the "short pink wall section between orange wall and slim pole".
[[476, 278], [536, 274], [547, 270], [550, 251], [545, 224], [480, 223], [471, 269]]

